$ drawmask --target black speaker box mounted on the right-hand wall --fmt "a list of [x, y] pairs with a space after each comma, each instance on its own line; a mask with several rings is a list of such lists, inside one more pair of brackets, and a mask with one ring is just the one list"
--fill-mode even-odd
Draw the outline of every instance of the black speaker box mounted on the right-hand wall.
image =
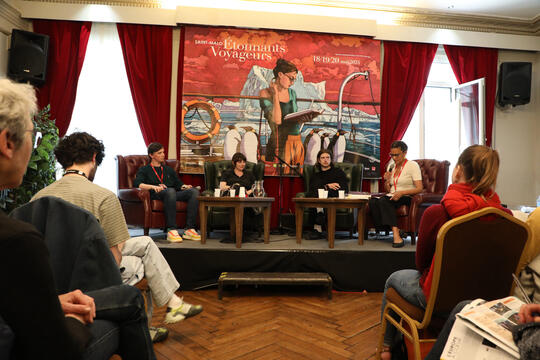
[[524, 105], [531, 101], [532, 64], [505, 62], [499, 69], [499, 104]]

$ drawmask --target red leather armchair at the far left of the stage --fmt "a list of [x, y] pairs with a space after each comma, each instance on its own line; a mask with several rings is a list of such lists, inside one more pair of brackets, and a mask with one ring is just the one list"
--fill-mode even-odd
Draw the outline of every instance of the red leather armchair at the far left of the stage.
[[[144, 228], [144, 235], [148, 235], [150, 228], [164, 228], [165, 215], [163, 202], [151, 200], [148, 190], [133, 187], [137, 170], [150, 162], [148, 155], [117, 155], [118, 166], [118, 198], [124, 211], [128, 225]], [[167, 165], [176, 172], [180, 169], [180, 161], [166, 160]], [[181, 228], [186, 223], [186, 202], [176, 202], [176, 225]]]

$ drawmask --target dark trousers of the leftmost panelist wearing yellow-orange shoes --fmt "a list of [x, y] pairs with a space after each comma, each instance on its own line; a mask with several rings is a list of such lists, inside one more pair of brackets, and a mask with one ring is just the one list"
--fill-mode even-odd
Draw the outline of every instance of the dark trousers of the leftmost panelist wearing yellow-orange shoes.
[[186, 229], [195, 229], [197, 225], [197, 211], [199, 210], [199, 190], [196, 188], [178, 190], [167, 188], [152, 194], [153, 200], [163, 201], [163, 212], [167, 229], [176, 228], [176, 202], [187, 202]]

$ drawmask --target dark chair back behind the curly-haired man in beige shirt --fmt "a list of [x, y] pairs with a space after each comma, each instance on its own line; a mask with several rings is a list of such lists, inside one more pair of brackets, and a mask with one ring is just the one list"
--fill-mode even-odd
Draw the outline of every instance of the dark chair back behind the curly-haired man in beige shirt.
[[103, 229], [90, 212], [46, 196], [18, 207], [10, 216], [43, 234], [58, 294], [122, 284]]

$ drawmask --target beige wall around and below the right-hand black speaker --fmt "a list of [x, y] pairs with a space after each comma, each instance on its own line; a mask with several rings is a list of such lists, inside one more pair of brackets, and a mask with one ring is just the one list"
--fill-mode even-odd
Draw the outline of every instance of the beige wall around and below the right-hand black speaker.
[[501, 167], [497, 192], [504, 203], [535, 205], [540, 195], [540, 53], [499, 51], [499, 64], [532, 62], [531, 102], [495, 110], [495, 147]]

